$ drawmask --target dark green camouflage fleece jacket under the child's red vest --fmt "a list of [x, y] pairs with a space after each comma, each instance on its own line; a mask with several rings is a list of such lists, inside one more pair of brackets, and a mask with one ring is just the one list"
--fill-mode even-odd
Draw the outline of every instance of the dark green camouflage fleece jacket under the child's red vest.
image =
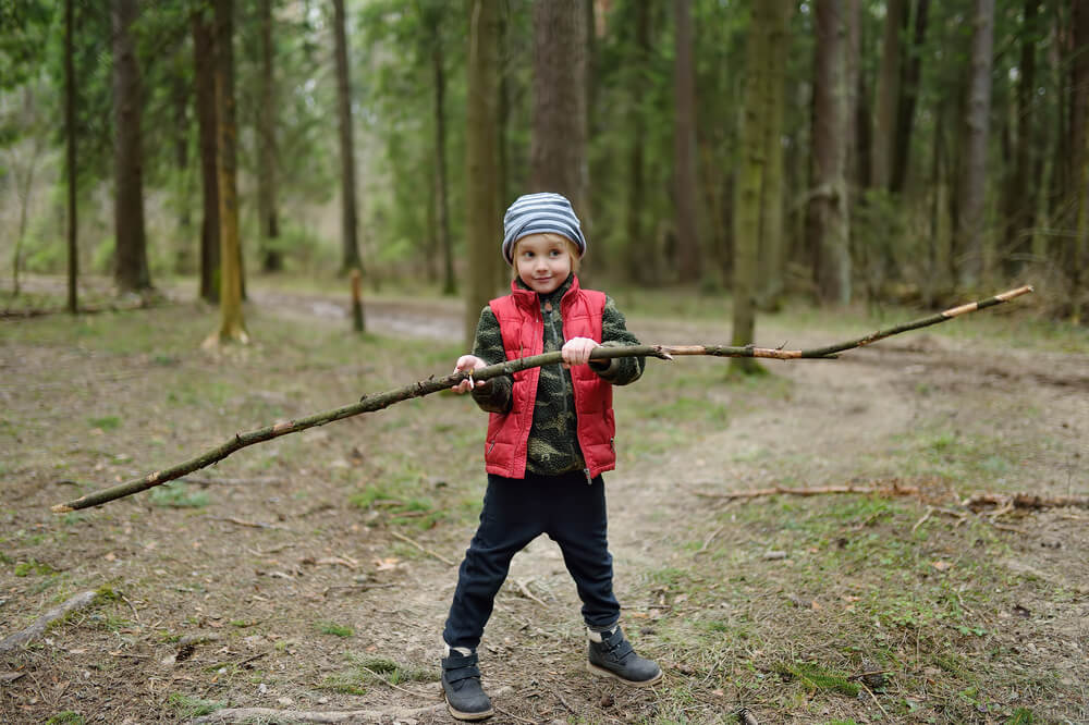
[[[548, 295], [538, 294], [541, 317], [544, 320], [544, 353], [553, 353], [563, 347], [563, 319], [560, 300], [571, 288], [572, 277]], [[521, 280], [518, 286], [528, 288]], [[638, 345], [639, 341], [627, 331], [624, 316], [616, 309], [612, 297], [605, 296], [605, 308], [601, 315], [601, 344], [604, 346]], [[477, 324], [473, 354], [495, 365], [506, 360], [503, 335], [499, 320], [486, 306]], [[590, 362], [590, 368], [613, 385], [626, 385], [643, 374], [646, 359], [623, 357], [612, 360]], [[473, 398], [482, 410], [506, 413], [511, 409], [513, 379], [510, 376], [493, 378], [473, 391]], [[537, 402], [534, 405], [534, 423], [529, 431], [529, 451], [526, 471], [541, 476], [559, 476], [586, 467], [583, 452], [578, 447], [575, 419], [575, 398], [571, 388], [571, 371], [562, 365], [541, 367], [537, 382]]]

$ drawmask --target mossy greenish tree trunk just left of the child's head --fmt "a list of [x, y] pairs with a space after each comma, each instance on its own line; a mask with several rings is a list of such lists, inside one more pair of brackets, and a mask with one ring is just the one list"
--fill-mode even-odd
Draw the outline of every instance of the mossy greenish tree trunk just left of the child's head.
[[472, 348], [480, 310], [499, 279], [499, 42], [501, 3], [468, 0], [469, 47], [465, 128], [465, 235], [469, 250], [465, 286], [465, 346]]

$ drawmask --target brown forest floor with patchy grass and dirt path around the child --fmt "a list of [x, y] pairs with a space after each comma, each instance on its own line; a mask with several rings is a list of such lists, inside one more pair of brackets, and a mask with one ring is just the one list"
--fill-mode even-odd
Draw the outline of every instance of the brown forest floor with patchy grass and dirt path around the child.
[[[0, 654], [0, 722], [451, 722], [441, 630], [484, 490], [486, 417], [467, 396], [50, 513], [236, 431], [445, 374], [463, 352], [460, 300], [368, 299], [360, 337], [328, 293], [250, 294], [244, 348], [200, 347], [216, 311], [188, 291], [0, 321], [0, 638], [97, 592]], [[722, 299], [616, 297], [644, 342], [729, 339]], [[921, 315], [799, 306], [761, 317], [758, 342], [831, 343]], [[1089, 495], [1085, 332], [1013, 303], [766, 367], [739, 380], [723, 360], [648, 360], [616, 392], [615, 588], [662, 683], [585, 671], [574, 586], [540, 539], [481, 646], [491, 722], [724, 723], [743, 708], [762, 725], [1089, 722], [1089, 509], [960, 503]], [[918, 492], [724, 497], [847, 483]]]

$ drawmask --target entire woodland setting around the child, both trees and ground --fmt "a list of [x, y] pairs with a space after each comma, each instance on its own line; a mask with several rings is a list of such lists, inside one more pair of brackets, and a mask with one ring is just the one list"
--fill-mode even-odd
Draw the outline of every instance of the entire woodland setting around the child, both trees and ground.
[[1087, 39], [1086, 0], [0, 0], [0, 721], [449, 722], [467, 397], [50, 507], [449, 372], [550, 189], [647, 343], [1036, 294], [649, 361], [610, 549], [665, 680], [586, 675], [539, 539], [498, 721], [1085, 722]]

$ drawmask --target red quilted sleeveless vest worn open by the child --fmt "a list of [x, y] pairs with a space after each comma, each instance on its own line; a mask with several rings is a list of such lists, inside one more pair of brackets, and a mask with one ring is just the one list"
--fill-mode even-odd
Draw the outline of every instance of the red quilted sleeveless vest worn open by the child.
[[[511, 294], [492, 299], [489, 305], [499, 320], [506, 359], [540, 355], [544, 347], [544, 320], [541, 318], [537, 293], [511, 284]], [[564, 340], [589, 337], [601, 342], [601, 315], [605, 295], [594, 290], [580, 290], [578, 278], [560, 300]], [[540, 368], [514, 373], [514, 392], [510, 413], [492, 413], [485, 441], [485, 468], [489, 474], [506, 478], [526, 477], [529, 430], [534, 423], [534, 404]], [[616, 422], [612, 410], [612, 385], [602, 380], [588, 365], [571, 368], [575, 415], [578, 419], [578, 445], [590, 477], [616, 467], [613, 435]]]

